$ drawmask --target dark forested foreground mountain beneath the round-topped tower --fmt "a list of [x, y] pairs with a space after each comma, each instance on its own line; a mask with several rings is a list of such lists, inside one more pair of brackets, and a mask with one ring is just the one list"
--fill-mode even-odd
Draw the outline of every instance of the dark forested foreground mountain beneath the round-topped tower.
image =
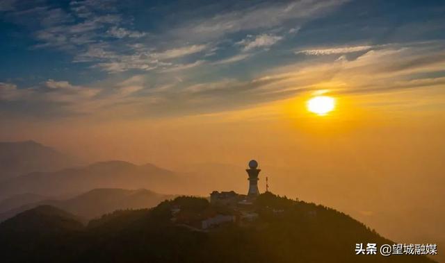
[[[173, 214], [173, 208], [179, 212]], [[181, 196], [152, 209], [113, 212], [86, 227], [72, 217], [53, 219], [63, 235], [47, 224], [30, 224], [26, 217], [35, 221], [36, 214], [24, 212], [0, 223], [0, 257], [2, 262], [434, 262], [421, 255], [355, 255], [357, 243], [393, 242], [321, 205], [265, 193], [246, 209], [257, 219], [201, 230], [202, 219], [238, 211]], [[60, 228], [64, 220], [72, 226]], [[33, 237], [36, 230], [44, 233]]]

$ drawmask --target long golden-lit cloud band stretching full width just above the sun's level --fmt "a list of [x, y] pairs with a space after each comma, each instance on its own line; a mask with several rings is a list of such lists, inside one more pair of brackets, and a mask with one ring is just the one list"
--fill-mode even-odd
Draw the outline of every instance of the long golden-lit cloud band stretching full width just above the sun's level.
[[[156, 75], [156, 80], [138, 74], [118, 82], [97, 83], [97, 87], [57, 80], [28, 88], [1, 83], [0, 100], [14, 102], [16, 106], [58, 105], [65, 114], [73, 116], [112, 117], [111, 112], [126, 112], [126, 117], [159, 117], [250, 108], [321, 88], [331, 94], [426, 90], [445, 85], [445, 77], [437, 75], [445, 65], [444, 46], [444, 42], [380, 46], [351, 60], [326, 58], [272, 67], [248, 80], [222, 78], [200, 82], [193, 71], [185, 75], [185, 81], [177, 76], [179, 70], [203, 65], [204, 61], [198, 60], [166, 67], [161, 70], [165, 76]], [[249, 55], [226, 60], [241, 60]]]

